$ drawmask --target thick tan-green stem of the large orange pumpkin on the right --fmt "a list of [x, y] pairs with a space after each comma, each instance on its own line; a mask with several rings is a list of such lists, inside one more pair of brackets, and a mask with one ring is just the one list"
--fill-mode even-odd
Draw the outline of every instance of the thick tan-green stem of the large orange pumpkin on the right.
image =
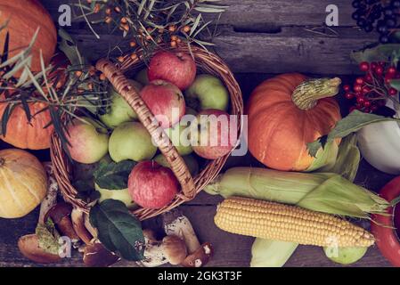
[[291, 95], [291, 100], [298, 109], [310, 110], [315, 107], [318, 100], [338, 94], [340, 84], [339, 77], [306, 80], [298, 85]]

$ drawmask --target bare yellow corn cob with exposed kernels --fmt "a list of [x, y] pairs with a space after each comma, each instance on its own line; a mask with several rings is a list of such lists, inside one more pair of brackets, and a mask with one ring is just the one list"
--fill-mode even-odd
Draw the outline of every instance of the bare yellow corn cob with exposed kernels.
[[225, 199], [214, 221], [226, 232], [305, 245], [369, 247], [374, 243], [370, 232], [336, 216], [257, 199]]

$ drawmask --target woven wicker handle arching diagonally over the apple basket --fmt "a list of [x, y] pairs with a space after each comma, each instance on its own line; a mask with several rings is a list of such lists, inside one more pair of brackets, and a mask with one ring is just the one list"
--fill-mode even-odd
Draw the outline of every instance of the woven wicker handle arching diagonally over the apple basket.
[[135, 91], [134, 85], [127, 81], [127, 77], [125, 77], [111, 61], [106, 59], [97, 61], [96, 69], [101, 71], [105, 77], [110, 80], [110, 83], [114, 86], [118, 94], [120, 94], [127, 101], [129, 106], [135, 110], [139, 120], [149, 131], [153, 141], [159, 146], [159, 151], [166, 157], [168, 164], [171, 166], [178, 182], [182, 186], [182, 191], [184, 193], [184, 197], [182, 198], [186, 200], [192, 199], [196, 194], [196, 188], [192, 175], [184, 163], [184, 159], [178, 154], [167, 134], [164, 131], [160, 132], [159, 127], [152, 124], [155, 118], [147, 105], [143, 102], [140, 94], [137, 94]]

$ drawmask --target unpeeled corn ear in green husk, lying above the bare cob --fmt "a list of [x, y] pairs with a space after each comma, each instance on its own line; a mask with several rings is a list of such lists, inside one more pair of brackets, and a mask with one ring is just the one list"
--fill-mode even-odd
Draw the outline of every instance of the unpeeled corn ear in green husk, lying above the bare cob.
[[387, 200], [334, 173], [295, 173], [233, 167], [205, 188], [224, 198], [241, 196], [293, 204], [323, 213], [369, 218], [385, 214]]

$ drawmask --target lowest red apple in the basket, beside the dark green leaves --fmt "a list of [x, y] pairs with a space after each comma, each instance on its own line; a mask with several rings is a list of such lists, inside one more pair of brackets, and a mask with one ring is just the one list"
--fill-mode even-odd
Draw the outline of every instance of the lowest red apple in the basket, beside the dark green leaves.
[[163, 208], [178, 192], [179, 183], [171, 169], [155, 161], [138, 163], [127, 182], [132, 199], [143, 208]]

